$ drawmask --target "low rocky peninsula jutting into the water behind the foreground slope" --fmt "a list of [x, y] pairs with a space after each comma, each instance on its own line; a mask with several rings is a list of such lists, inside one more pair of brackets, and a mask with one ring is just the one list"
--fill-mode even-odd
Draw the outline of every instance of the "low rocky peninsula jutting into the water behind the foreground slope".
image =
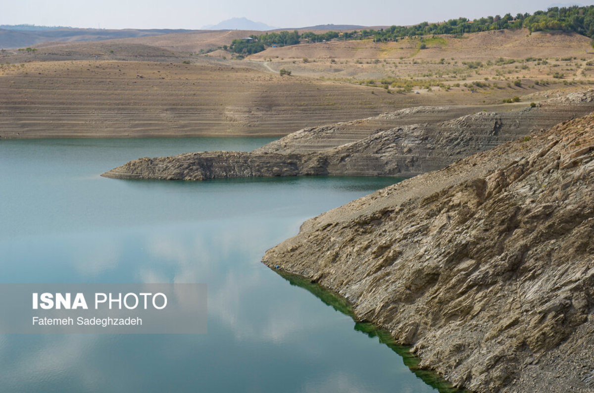
[[181, 180], [297, 175], [410, 177], [592, 110], [594, 90], [571, 93], [520, 110], [484, 112], [462, 106], [417, 107], [305, 128], [250, 153], [144, 158], [103, 176]]

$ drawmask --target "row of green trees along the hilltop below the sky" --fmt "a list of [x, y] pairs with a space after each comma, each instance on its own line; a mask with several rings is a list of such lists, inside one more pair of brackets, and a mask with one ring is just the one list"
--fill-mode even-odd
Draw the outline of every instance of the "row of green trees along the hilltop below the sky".
[[322, 34], [315, 34], [306, 31], [299, 34], [297, 30], [292, 32], [280, 31], [252, 35], [250, 40], [233, 40], [229, 49], [241, 55], [258, 53], [271, 46], [296, 45], [302, 42], [323, 42], [333, 39], [364, 40], [373, 39], [375, 42], [397, 42], [399, 39], [414, 36], [426, 36], [431, 34], [455, 34], [478, 33], [479, 31], [513, 29], [526, 27], [530, 32], [562, 30], [573, 31], [578, 34], [594, 39], [594, 5], [587, 7], [551, 7], [547, 11], [536, 11], [533, 14], [505, 14], [503, 17], [478, 18], [468, 20], [467, 18], [450, 19], [443, 23], [423, 22], [415, 26], [390, 26], [380, 30], [363, 29], [350, 32], [337, 33], [327, 31]]

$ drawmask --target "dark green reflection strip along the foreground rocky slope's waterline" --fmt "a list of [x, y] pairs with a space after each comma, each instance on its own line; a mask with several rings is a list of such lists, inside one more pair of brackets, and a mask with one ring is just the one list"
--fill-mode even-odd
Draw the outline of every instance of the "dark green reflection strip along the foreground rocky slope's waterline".
[[377, 337], [380, 343], [402, 356], [402, 360], [409, 369], [421, 378], [426, 384], [437, 388], [441, 393], [466, 392], [465, 389], [456, 389], [449, 382], [429, 370], [419, 369], [419, 359], [410, 352], [410, 347], [402, 346], [394, 340], [385, 329], [379, 328], [369, 322], [356, 321], [352, 305], [339, 294], [330, 291], [318, 283], [312, 283], [305, 277], [284, 271], [276, 271], [280, 276], [289, 281], [291, 285], [301, 287], [320, 299], [324, 304], [342, 312], [355, 320], [355, 330], [366, 334], [370, 338]]

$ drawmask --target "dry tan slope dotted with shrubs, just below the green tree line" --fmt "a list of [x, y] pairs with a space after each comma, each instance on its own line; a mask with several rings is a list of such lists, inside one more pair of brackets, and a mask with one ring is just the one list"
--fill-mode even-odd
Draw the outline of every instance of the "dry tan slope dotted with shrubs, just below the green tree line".
[[[426, 93], [448, 90], [485, 94], [488, 102], [561, 85], [590, 84], [590, 39], [573, 33], [499, 30], [462, 37], [371, 40], [270, 48], [249, 56], [295, 75]], [[306, 60], [307, 59], [307, 60]], [[555, 76], [562, 78], [556, 78]], [[517, 85], [516, 80], [520, 80]], [[514, 84], [514, 82], [516, 84]], [[466, 86], [465, 86], [466, 85]]]

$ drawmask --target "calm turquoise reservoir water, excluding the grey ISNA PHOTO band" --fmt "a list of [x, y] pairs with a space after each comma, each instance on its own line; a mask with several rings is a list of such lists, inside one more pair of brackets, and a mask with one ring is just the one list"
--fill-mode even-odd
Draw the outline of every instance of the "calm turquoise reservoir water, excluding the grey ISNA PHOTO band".
[[395, 179], [99, 176], [138, 157], [268, 141], [0, 141], [1, 282], [208, 285], [207, 334], [0, 335], [2, 390], [435, 391], [374, 334], [260, 262], [302, 221]]

